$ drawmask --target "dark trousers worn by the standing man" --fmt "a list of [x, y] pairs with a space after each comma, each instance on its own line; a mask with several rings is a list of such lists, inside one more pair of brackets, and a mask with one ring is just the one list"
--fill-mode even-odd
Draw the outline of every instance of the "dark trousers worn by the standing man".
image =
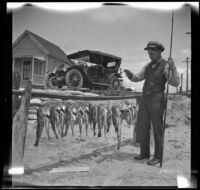
[[137, 121], [137, 132], [142, 155], [150, 155], [150, 129], [152, 123], [155, 143], [154, 157], [160, 158], [161, 156], [164, 108], [164, 92], [156, 92], [151, 95], [142, 94]]

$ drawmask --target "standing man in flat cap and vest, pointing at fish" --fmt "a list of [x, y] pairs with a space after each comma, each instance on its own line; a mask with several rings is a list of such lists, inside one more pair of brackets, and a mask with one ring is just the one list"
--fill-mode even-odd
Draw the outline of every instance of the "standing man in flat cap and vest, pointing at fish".
[[169, 84], [177, 87], [180, 79], [174, 61], [171, 58], [168, 61], [162, 58], [161, 53], [165, 48], [161, 43], [150, 41], [145, 50], [148, 51], [151, 62], [146, 64], [138, 73], [125, 70], [125, 74], [133, 82], [145, 80], [137, 121], [140, 155], [136, 156], [135, 159], [150, 158], [150, 128], [152, 123], [155, 152], [154, 157], [147, 164], [155, 165], [160, 163], [161, 158], [163, 114], [166, 107], [165, 84], [169, 79]]

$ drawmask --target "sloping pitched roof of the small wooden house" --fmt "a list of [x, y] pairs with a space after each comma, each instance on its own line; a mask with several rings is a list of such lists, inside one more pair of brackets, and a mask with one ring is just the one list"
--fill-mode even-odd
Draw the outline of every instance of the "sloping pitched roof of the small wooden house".
[[51, 55], [52, 57], [58, 58], [62, 61], [65, 61], [69, 64], [72, 64], [71, 60], [68, 59], [67, 55], [65, 54], [65, 52], [58, 47], [57, 45], [45, 40], [44, 38], [28, 31], [25, 30], [21, 36], [19, 36], [15, 42], [13, 43], [13, 48], [21, 41], [21, 39], [23, 39], [24, 36], [28, 35], [30, 37], [30, 39], [32, 39], [32, 41], [34, 43], [36, 43], [38, 45], [38, 47], [45, 52], [46, 54]]

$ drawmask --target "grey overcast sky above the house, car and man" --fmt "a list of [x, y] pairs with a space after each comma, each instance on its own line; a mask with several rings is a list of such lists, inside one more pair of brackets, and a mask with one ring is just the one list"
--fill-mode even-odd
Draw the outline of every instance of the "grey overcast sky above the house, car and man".
[[[84, 49], [100, 50], [121, 57], [122, 68], [137, 72], [149, 62], [144, 47], [150, 40], [163, 43], [166, 48], [163, 57], [169, 57], [171, 17], [171, 10], [129, 6], [103, 6], [75, 12], [28, 6], [13, 11], [13, 42], [24, 30], [30, 30], [55, 43], [66, 54]], [[182, 61], [191, 57], [191, 35], [186, 34], [191, 31], [190, 19], [190, 7], [175, 10], [172, 57], [184, 77], [186, 63]], [[142, 87], [141, 82], [131, 83], [127, 79], [125, 84], [138, 90]]]

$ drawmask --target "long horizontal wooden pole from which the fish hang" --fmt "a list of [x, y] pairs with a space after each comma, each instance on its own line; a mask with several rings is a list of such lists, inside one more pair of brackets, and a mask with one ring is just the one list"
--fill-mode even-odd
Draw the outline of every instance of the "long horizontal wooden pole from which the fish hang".
[[[13, 95], [21, 96], [23, 90], [12, 90]], [[141, 93], [134, 93], [133, 95], [128, 96], [84, 96], [84, 95], [65, 95], [59, 94], [57, 92], [42, 92], [42, 91], [34, 91], [31, 92], [31, 98], [54, 98], [54, 99], [62, 99], [62, 100], [122, 100], [122, 99], [133, 99], [141, 96]]]

